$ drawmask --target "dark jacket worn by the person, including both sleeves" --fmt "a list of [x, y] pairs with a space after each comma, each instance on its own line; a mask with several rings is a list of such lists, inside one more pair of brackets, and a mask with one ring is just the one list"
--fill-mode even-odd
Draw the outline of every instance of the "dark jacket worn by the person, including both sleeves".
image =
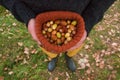
[[15, 18], [28, 23], [37, 14], [47, 11], [73, 11], [84, 18], [87, 33], [98, 23], [115, 0], [0, 0]]

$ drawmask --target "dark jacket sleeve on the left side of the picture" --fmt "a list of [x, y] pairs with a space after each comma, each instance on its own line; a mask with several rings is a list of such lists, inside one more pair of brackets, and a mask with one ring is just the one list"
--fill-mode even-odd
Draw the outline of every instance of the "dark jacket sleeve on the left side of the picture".
[[35, 18], [34, 12], [19, 0], [0, 0], [0, 4], [11, 11], [18, 21], [26, 25], [31, 18]]

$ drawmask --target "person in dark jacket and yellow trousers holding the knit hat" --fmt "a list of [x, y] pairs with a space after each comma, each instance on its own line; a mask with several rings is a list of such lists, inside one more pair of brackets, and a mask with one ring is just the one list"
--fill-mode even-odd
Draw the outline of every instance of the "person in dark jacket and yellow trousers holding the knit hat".
[[[115, 0], [0, 0], [0, 5], [11, 11], [14, 17], [26, 24], [28, 31], [33, 39], [41, 44], [35, 34], [35, 17], [48, 11], [72, 11], [80, 14], [85, 22], [85, 31], [79, 48], [65, 52], [65, 59], [71, 71], [76, 70], [72, 57], [81, 49], [82, 43], [89, 35], [91, 29], [102, 18], [105, 11], [114, 3]], [[76, 46], [74, 46], [75, 48]], [[52, 54], [42, 50], [52, 59], [48, 63], [48, 70], [53, 71], [58, 59], [57, 54]]]

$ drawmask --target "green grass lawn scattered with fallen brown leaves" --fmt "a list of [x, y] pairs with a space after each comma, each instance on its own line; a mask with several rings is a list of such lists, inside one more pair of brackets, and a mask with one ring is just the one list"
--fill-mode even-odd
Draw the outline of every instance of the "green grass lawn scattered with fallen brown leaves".
[[0, 80], [120, 80], [120, 0], [94, 26], [73, 59], [76, 72], [67, 69], [64, 55], [55, 70], [48, 72], [49, 58], [25, 24], [0, 6]]

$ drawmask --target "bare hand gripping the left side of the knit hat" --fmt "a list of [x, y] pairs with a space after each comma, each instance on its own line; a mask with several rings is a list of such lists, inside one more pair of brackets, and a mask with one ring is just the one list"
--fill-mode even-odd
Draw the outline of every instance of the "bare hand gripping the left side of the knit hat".
[[39, 45], [41, 45], [41, 43], [40, 43], [40, 41], [38, 40], [38, 38], [37, 38], [37, 36], [36, 36], [36, 33], [35, 33], [35, 19], [34, 19], [34, 18], [30, 19], [29, 22], [28, 22], [28, 31], [29, 31], [29, 33], [31, 34], [31, 36], [33, 37], [33, 39], [34, 39], [35, 41], [37, 41], [37, 43], [38, 43]]

